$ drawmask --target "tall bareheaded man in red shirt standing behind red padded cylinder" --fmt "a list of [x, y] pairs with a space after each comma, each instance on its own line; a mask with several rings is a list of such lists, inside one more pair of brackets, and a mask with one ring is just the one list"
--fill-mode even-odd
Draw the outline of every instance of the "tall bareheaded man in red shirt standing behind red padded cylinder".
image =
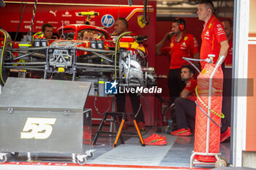
[[[209, 54], [214, 54], [214, 63], [217, 63], [219, 56], [227, 56], [227, 36], [222, 23], [214, 15], [214, 4], [211, 0], [200, 1], [197, 9], [199, 20], [205, 22], [201, 35], [200, 59], [206, 59]], [[205, 64], [205, 61], [201, 62], [202, 69]]]

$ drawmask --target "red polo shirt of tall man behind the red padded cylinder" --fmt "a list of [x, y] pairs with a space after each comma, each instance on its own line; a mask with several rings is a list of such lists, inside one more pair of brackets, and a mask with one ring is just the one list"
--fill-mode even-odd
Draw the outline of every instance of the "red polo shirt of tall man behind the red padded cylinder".
[[[208, 23], [203, 25], [203, 32], [201, 35], [202, 45], [200, 50], [200, 59], [208, 58], [208, 54], [214, 54], [214, 63], [219, 58], [220, 42], [227, 40], [222, 23], [212, 15]], [[202, 68], [206, 62], [201, 62]]]

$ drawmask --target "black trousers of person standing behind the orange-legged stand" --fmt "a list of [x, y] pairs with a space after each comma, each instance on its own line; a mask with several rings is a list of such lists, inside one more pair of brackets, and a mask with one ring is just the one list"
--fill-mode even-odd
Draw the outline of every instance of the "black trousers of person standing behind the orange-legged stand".
[[[118, 93], [116, 94], [116, 108], [117, 112], [126, 112], [126, 93]], [[138, 96], [137, 93], [129, 93], [129, 99], [132, 103], [132, 111], [134, 114], [138, 112], [138, 109], [140, 108], [140, 96]], [[144, 121], [144, 115], [142, 111], [142, 107], [140, 108], [140, 111], [138, 112], [138, 115], [135, 117], [135, 120], [137, 123]]]

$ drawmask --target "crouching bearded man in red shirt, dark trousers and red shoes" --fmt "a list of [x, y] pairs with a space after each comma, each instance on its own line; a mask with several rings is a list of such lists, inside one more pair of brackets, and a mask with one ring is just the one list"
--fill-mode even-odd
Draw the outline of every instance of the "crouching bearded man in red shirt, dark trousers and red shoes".
[[185, 82], [186, 86], [181, 91], [181, 94], [175, 100], [175, 115], [177, 123], [177, 131], [172, 131], [170, 134], [175, 136], [190, 136], [191, 129], [195, 129], [195, 87], [197, 80], [193, 78], [194, 69], [192, 66], [181, 66], [181, 80]]

